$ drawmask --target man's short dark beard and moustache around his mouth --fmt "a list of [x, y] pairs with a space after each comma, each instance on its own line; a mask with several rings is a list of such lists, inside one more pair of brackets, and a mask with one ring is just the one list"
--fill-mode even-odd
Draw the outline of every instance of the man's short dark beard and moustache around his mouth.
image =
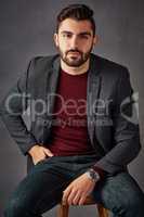
[[83, 63], [87, 62], [87, 60], [90, 58], [92, 47], [90, 48], [89, 51], [86, 53], [79, 51], [78, 49], [70, 49], [66, 51], [65, 53], [57, 47], [60, 56], [70, 67], [79, 67]]

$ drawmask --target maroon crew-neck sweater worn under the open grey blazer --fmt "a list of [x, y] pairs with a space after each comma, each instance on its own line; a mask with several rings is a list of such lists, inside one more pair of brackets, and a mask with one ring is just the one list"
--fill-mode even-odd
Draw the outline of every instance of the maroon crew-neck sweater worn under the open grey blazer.
[[[54, 155], [94, 154], [87, 128], [87, 78], [81, 75], [60, 74], [54, 105], [52, 142], [49, 149]], [[95, 170], [103, 175], [100, 168]]]

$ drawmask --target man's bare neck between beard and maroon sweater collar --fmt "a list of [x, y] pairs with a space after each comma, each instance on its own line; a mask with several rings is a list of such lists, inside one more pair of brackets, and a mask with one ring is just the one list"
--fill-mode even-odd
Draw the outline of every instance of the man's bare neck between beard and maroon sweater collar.
[[86, 63], [78, 67], [68, 66], [62, 59], [61, 59], [61, 67], [64, 72], [70, 75], [80, 75], [87, 73], [89, 69], [90, 59], [87, 60]]

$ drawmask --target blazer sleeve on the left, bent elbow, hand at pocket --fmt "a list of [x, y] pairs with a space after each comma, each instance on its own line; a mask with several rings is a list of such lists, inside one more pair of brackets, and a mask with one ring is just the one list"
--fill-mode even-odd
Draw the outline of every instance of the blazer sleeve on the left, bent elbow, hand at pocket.
[[29, 62], [26, 72], [18, 78], [14, 87], [9, 90], [0, 104], [0, 116], [24, 155], [37, 143], [34, 135], [28, 131], [22, 117], [28, 106], [27, 88], [29, 73], [32, 69], [32, 62], [34, 60]]

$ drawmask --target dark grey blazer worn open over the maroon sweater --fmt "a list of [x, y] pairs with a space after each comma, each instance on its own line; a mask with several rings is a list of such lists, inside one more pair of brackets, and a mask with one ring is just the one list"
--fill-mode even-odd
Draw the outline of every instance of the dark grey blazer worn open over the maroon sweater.
[[[49, 144], [58, 75], [57, 54], [34, 58], [26, 73], [1, 102], [0, 115], [29, 162], [31, 158], [27, 152], [32, 145]], [[95, 166], [110, 174], [127, 169], [141, 149], [139, 125], [127, 118], [133, 112], [132, 93], [126, 67], [91, 54], [87, 87], [88, 131], [91, 145], [101, 154]], [[41, 103], [36, 102], [44, 102], [44, 112]], [[8, 104], [11, 111], [8, 111]], [[37, 114], [34, 115], [36, 104]], [[121, 115], [121, 105], [126, 116]], [[22, 117], [28, 107], [31, 111], [29, 130]]]

